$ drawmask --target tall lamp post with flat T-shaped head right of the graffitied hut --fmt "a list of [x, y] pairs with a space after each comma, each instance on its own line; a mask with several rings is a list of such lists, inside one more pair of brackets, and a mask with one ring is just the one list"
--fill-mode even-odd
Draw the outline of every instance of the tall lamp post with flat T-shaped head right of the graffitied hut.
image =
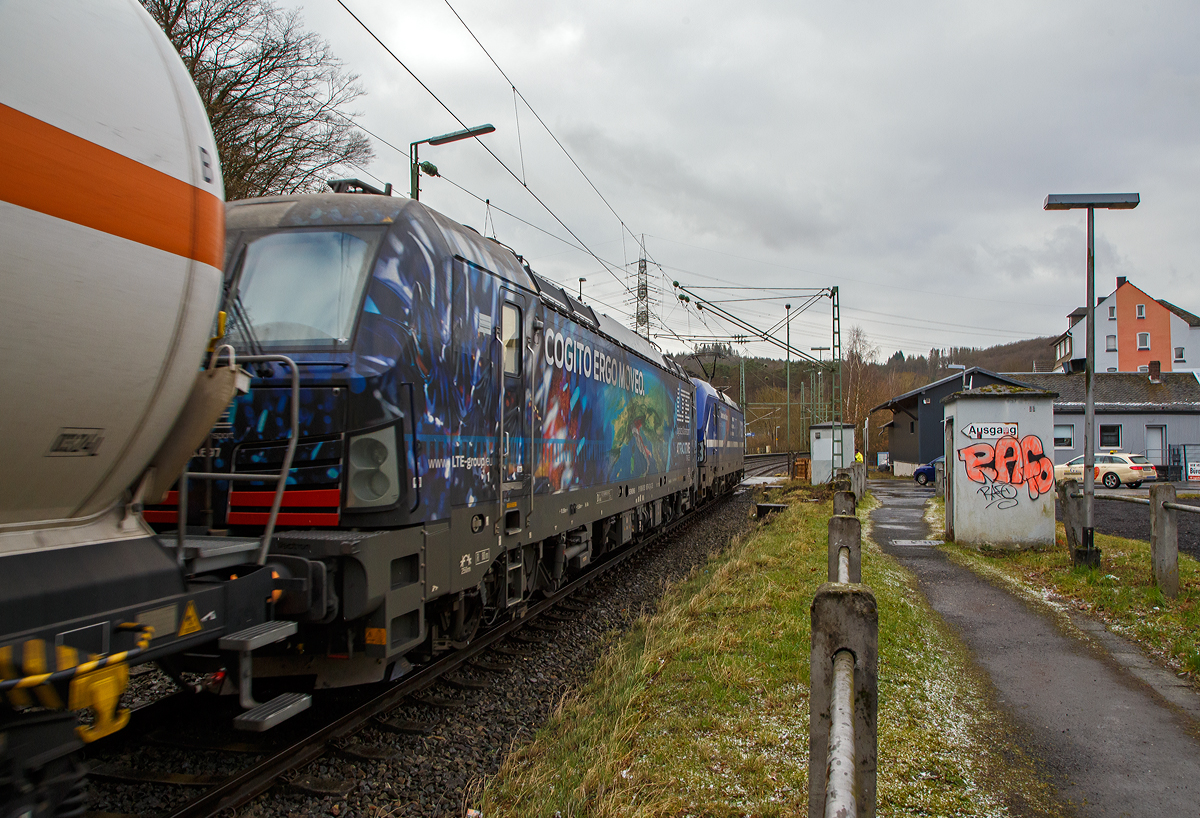
[[1087, 363], [1084, 367], [1084, 541], [1072, 554], [1075, 565], [1099, 567], [1100, 552], [1096, 548], [1092, 506], [1096, 500], [1096, 209], [1133, 210], [1141, 203], [1136, 193], [1051, 193], [1042, 204], [1043, 210], [1087, 209]]

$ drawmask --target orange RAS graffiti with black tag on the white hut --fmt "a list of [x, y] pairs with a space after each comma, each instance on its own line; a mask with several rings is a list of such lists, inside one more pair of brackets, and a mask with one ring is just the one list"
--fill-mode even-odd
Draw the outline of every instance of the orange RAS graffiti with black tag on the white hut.
[[1020, 440], [1004, 435], [995, 444], [976, 443], [959, 450], [967, 480], [982, 483], [978, 492], [988, 507], [1012, 509], [1019, 503], [1020, 486], [1031, 500], [1054, 488], [1054, 461], [1045, 455], [1042, 438], [1027, 434]]

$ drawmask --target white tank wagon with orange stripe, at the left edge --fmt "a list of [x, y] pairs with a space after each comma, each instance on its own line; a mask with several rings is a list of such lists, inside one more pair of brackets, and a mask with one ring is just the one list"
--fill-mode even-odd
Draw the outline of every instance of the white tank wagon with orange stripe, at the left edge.
[[235, 389], [198, 373], [223, 198], [139, 4], [0, 5], [0, 814], [82, 814], [73, 753], [128, 718], [128, 667], [269, 618], [269, 570], [185, 567], [140, 516]]

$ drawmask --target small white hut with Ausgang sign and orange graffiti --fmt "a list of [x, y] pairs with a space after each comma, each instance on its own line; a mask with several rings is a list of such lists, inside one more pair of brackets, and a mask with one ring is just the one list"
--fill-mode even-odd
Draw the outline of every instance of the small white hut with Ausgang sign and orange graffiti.
[[1054, 392], [991, 385], [946, 407], [946, 536], [991, 548], [1054, 545]]

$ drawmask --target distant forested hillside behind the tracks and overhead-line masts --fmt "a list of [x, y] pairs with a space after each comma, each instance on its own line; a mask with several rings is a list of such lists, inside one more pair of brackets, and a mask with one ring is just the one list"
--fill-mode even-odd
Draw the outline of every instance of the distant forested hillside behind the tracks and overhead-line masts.
[[[886, 355], [874, 345], [862, 327], [853, 326], [842, 338], [841, 404], [842, 422], [857, 429], [856, 447], [863, 449], [863, 419], [878, 404], [924, 384], [952, 374], [950, 363], [983, 367], [992, 372], [1048, 371], [1054, 365], [1052, 338], [1031, 338], [985, 349], [952, 347], [930, 349], [928, 355], [896, 351]], [[690, 355], [674, 355], [688, 372], [706, 378], [734, 401], [742, 399], [743, 363], [748, 451], [791, 449], [806, 451], [809, 425], [832, 419], [832, 365], [792, 361], [791, 365], [791, 446], [787, 427], [787, 367], [785, 361], [743, 357], [732, 344], [707, 344]], [[868, 451], [887, 447], [882, 426], [892, 420], [890, 411], [871, 416]]]

